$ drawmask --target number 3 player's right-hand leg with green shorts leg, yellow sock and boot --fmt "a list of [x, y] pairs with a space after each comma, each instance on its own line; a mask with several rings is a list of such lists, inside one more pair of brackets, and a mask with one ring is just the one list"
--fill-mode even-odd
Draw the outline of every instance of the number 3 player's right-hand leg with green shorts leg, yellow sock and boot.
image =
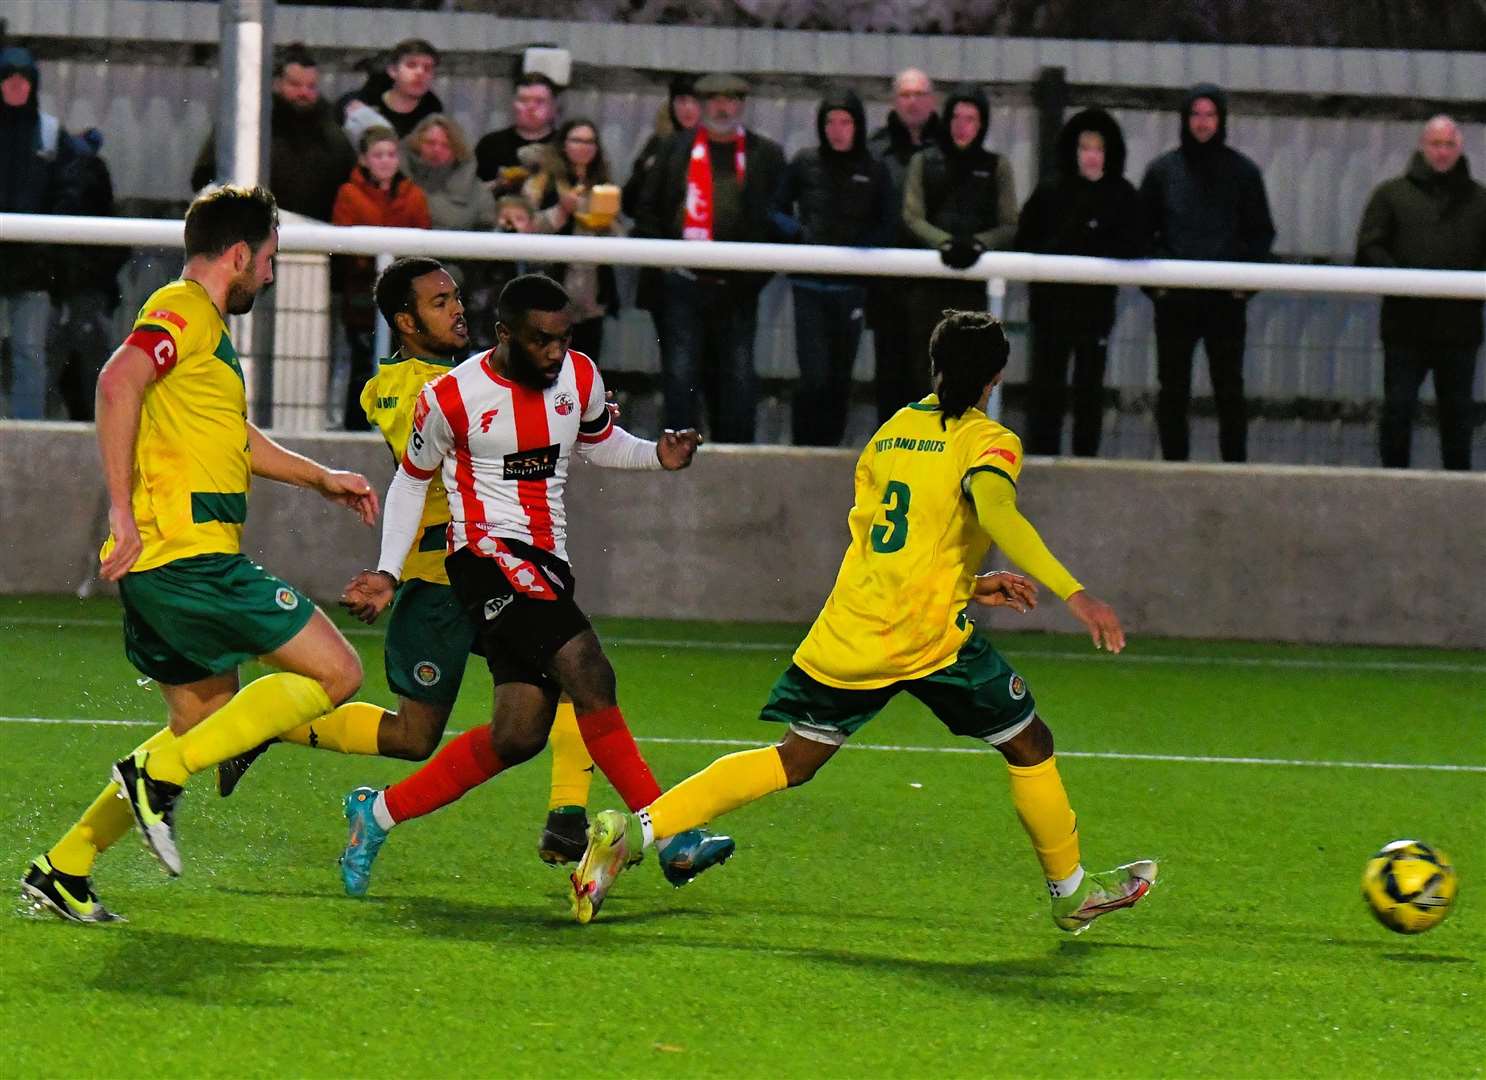
[[1079, 859], [1079, 822], [1058, 774], [1052, 732], [1037, 716], [1025, 680], [991, 643], [972, 634], [950, 667], [908, 685], [950, 731], [979, 738], [1006, 759], [1012, 805], [1042, 863], [1052, 920], [1079, 933], [1100, 915], [1137, 903], [1156, 879], [1156, 863], [1137, 862], [1088, 874]]

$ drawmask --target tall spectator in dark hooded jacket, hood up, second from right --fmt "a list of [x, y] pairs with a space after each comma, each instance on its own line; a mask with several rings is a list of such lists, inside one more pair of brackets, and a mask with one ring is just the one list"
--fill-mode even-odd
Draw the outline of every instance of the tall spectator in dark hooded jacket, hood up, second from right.
[[[1275, 242], [1265, 177], [1227, 146], [1227, 97], [1211, 83], [1193, 86], [1181, 104], [1181, 144], [1150, 163], [1140, 184], [1156, 258], [1263, 261]], [[1217, 401], [1223, 461], [1248, 458], [1244, 404], [1244, 337], [1248, 296], [1219, 290], [1158, 288], [1156, 425], [1167, 461], [1190, 453], [1187, 407], [1192, 354], [1202, 342]]]

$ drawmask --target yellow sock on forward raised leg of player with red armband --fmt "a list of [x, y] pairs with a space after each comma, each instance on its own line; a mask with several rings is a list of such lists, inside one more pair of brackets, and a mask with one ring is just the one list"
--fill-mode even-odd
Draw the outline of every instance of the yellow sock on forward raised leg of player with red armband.
[[333, 706], [325, 688], [309, 676], [266, 674], [174, 743], [155, 750], [146, 771], [156, 780], [184, 784], [193, 774], [293, 731]]

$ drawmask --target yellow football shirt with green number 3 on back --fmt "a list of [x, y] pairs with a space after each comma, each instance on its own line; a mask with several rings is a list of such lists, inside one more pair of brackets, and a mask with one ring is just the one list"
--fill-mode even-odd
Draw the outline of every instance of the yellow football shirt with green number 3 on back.
[[979, 409], [941, 423], [935, 395], [901, 409], [856, 462], [851, 544], [835, 587], [795, 651], [811, 679], [874, 689], [948, 667], [970, 636], [966, 606], [991, 538], [964, 480], [1013, 486], [1021, 440]]

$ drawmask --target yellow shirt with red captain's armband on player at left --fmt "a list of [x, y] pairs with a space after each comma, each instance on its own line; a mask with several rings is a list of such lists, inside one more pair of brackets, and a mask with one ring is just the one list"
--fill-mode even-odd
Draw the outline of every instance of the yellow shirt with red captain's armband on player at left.
[[[155, 382], [134, 444], [134, 520], [144, 550], [131, 572], [236, 554], [253, 459], [248, 395], [227, 324], [205, 288], [178, 279], [150, 294], [134, 331], [131, 343], [152, 343]], [[101, 557], [113, 544], [104, 541]]]

